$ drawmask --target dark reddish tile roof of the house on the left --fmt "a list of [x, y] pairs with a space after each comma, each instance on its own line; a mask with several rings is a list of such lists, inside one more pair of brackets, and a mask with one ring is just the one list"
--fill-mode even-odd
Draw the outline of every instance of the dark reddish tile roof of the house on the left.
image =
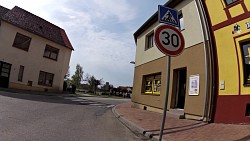
[[[3, 11], [4, 12], [1, 12], [1, 7], [0, 7], [0, 14], [6, 12], [6, 10]], [[66, 32], [62, 28], [18, 6], [15, 6], [13, 9], [7, 11], [7, 13], [5, 13], [1, 17], [1, 19], [12, 25], [20, 27], [24, 30], [27, 30], [43, 38], [46, 38], [48, 40], [51, 40], [55, 43], [58, 43], [62, 46], [74, 50]]]

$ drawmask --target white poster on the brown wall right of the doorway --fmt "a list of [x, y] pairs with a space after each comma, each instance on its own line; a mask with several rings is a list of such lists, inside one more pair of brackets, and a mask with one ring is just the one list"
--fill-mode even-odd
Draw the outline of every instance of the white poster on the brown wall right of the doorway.
[[189, 77], [189, 95], [199, 95], [200, 91], [200, 76], [190, 75]]

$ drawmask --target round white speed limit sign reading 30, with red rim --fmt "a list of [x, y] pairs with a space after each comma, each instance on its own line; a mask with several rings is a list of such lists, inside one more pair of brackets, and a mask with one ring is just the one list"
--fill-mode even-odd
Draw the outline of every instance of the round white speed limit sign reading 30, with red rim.
[[164, 54], [177, 56], [182, 53], [185, 41], [176, 27], [161, 25], [155, 30], [155, 44]]

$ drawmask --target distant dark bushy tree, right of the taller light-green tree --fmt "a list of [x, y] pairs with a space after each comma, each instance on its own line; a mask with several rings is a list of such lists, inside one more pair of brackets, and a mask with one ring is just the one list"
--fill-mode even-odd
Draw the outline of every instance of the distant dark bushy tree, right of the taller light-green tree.
[[89, 84], [89, 88], [93, 93], [96, 93], [96, 89], [98, 85], [101, 85], [103, 83], [102, 79], [98, 80], [95, 78], [94, 75], [86, 74], [85, 79], [87, 83]]

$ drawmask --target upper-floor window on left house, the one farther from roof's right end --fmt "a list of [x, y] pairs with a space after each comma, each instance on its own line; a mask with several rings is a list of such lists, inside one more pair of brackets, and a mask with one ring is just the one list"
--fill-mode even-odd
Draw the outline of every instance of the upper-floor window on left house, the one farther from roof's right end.
[[13, 47], [28, 51], [30, 42], [31, 42], [30, 37], [17, 33], [13, 43]]

